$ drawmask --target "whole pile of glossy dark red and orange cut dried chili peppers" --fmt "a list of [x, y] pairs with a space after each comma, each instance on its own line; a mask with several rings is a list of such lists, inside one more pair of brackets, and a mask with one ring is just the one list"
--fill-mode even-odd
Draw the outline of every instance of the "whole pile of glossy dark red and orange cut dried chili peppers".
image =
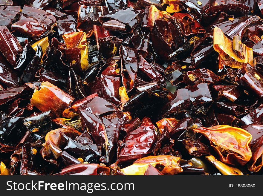
[[0, 174], [262, 174], [261, 17], [263, 0], [0, 0]]

